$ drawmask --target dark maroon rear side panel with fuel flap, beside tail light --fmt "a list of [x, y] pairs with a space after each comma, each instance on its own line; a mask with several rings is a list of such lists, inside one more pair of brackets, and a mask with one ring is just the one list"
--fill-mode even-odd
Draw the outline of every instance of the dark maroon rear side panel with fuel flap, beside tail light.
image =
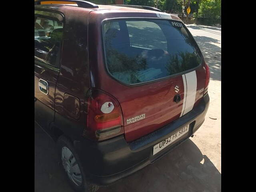
[[[90, 87], [87, 28], [88, 14], [92, 10], [70, 6], [47, 6], [47, 9], [60, 12], [65, 18], [52, 127], [62, 130], [71, 140], [78, 140], [86, 126], [84, 103]], [[74, 105], [69, 103], [70, 98]]]

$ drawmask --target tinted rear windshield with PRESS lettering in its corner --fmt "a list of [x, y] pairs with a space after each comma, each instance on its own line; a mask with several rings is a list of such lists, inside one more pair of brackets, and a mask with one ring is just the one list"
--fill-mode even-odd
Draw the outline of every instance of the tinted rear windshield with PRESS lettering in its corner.
[[202, 56], [182, 22], [163, 19], [110, 19], [102, 25], [108, 72], [137, 84], [191, 70]]

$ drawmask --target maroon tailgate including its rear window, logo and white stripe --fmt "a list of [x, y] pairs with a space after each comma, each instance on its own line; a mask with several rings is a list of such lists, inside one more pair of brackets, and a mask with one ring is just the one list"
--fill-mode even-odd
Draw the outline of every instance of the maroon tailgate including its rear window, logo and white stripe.
[[120, 102], [128, 142], [180, 118], [198, 103], [205, 69], [182, 22], [110, 19], [103, 34], [108, 73], [124, 85], [122, 92], [109, 91]]

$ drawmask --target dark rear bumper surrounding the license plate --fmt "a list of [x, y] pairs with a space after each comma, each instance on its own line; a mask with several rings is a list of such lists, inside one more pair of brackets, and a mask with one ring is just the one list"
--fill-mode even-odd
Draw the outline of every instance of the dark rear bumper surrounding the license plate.
[[[84, 163], [88, 179], [100, 186], [108, 185], [162, 158], [185, 142], [203, 124], [209, 100], [206, 94], [191, 112], [130, 143], [126, 142], [123, 135], [103, 142], [92, 142], [84, 138], [75, 141], [74, 147]], [[153, 156], [154, 145], [187, 124], [190, 124], [187, 134]]]

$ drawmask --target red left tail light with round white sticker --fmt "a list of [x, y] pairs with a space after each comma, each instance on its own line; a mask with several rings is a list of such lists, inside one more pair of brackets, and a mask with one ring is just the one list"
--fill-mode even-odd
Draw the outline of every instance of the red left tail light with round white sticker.
[[124, 134], [122, 110], [113, 96], [91, 88], [86, 100], [87, 127], [83, 136], [100, 141]]

